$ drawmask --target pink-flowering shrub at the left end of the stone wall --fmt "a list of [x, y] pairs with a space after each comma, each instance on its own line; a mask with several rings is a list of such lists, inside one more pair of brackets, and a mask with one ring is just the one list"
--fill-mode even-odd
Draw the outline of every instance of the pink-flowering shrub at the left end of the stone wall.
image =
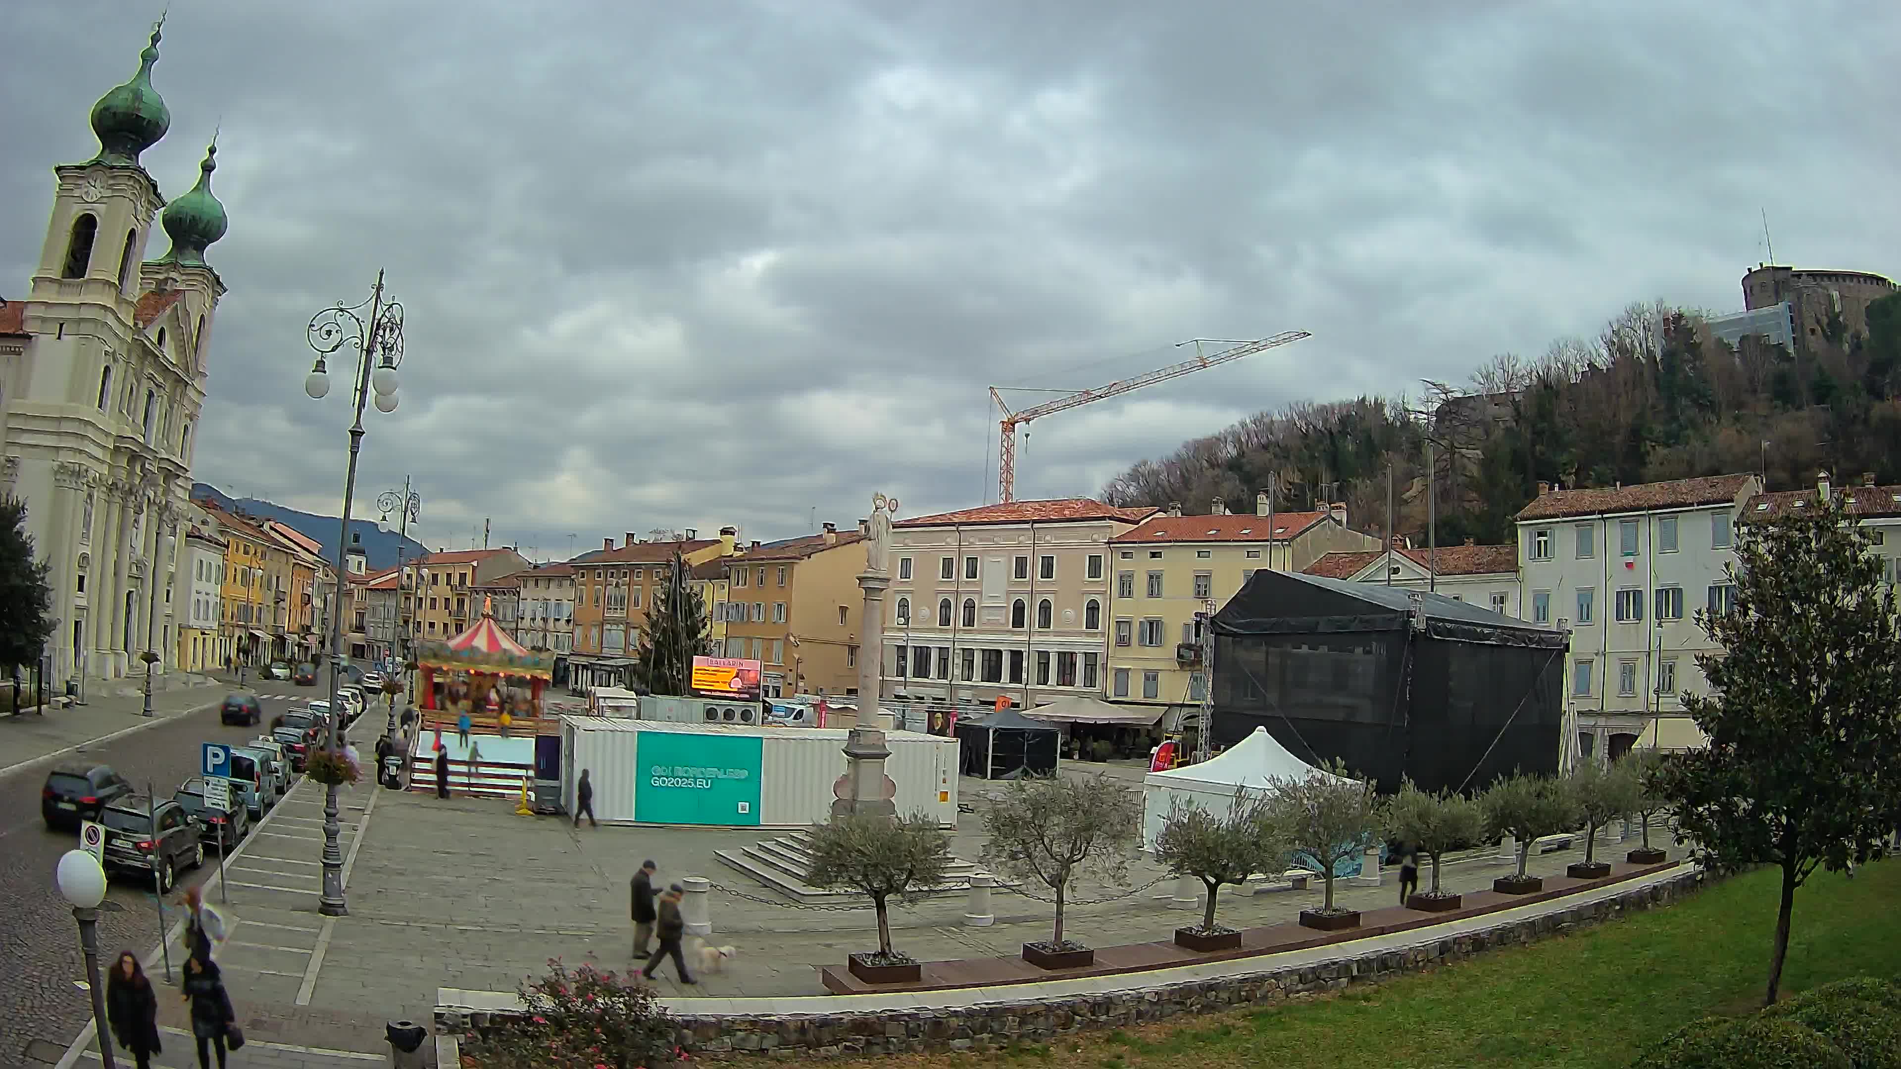
[[527, 1012], [464, 1046], [485, 1069], [654, 1069], [682, 1058], [654, 991], [631, 978], [553, 959], [517, 993]]

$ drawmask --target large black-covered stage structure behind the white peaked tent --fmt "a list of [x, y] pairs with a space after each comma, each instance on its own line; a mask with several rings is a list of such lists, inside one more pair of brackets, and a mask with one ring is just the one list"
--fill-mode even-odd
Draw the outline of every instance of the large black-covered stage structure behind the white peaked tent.
[[1439, 593], [1270, 571], [1213, 626], [1217, 746], [1264, 727], [1382, 791], [1401, 776], [1437, 791], [1559, 768], [1563, 632]]

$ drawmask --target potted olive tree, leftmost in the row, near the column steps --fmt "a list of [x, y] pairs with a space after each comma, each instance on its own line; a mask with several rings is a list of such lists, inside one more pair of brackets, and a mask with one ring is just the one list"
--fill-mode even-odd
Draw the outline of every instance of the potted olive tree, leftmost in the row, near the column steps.
[[950, 833], [922, 812], [901, 820], [842, 814], [814, 827], [806, 848], [812, 886], [855, 890], [878, 913], [878, 953], [850, 955], [852, 976], [865, 983], [920, 980], [916, 959], [892, 949], [890, 900], [911, 902], [945, 881]]

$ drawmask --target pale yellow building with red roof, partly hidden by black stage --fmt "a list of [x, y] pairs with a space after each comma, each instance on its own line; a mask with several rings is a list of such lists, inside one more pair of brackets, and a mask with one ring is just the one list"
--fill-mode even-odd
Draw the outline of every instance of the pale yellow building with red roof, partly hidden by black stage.
[[1257, 571], [1298, 571], [1335, 552], [1376, 548], [1373, 534], [1346, 525], [1346, 508], [1274, 512], [1268, 496], [1253, 514], [1230, 514], [1215, 498], [1211, 515], [1152, 515], [1108, 540], [1108, 700], [1152, 711], [1163, 727], [1200, 706], [1207, 687], [1198, 614], [1220, 609]]

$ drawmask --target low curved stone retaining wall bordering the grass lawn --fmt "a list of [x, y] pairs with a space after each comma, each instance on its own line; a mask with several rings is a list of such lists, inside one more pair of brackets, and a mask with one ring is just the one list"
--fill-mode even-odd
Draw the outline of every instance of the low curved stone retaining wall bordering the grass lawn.
[[[1009, 1042], [1047, 1042], [1084, 1029], [1116, 1029], [1181, 1014], [1205, 1014], [1378, 983], [1405, 972], [1469, 959], [1496, 947], [1530, 943], [1625, 911], [1673, 905], [1694, 894], [1703, 873], [1686, 871], [1648, 886], [1557, 909], [1525, 921], [1447, 936], [1403, 951], [1352, 953], [1289, 968], [1141, 987], [1143, 974], [1125, 974], [1127, 991], [1023, 999], [949, 1006], [943, 1010], [884, 1010], [859, 1014], [720, 1014], [681, 1016], [679, 1044], [694, 1056], [770, 1054], [774, 1058], [907, 1054], [928, 1050], [998, 1048]], [[764, 1002], [764, 999], [760, 999]], [[435, 1031], [481, 1033], [498, 1014], [437, 1006]]]

